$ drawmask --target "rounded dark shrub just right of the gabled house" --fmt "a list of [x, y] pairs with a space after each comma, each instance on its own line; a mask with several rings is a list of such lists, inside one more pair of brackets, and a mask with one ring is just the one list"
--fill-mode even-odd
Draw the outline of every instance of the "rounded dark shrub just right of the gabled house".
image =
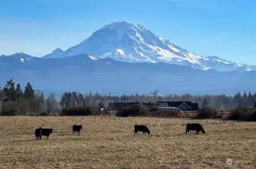
[[217, 110], [213, 107], [202, 107], [193, 119], [217, 119]]

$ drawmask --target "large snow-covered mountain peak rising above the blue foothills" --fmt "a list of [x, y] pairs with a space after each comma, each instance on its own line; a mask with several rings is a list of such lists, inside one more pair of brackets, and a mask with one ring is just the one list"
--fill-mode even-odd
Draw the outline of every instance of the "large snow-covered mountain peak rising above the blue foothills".
[[89, 38], [63, 51], [54, 50], [43, 58], [63, 58], [82, 53], [123, 62], [165, 62], [189, 65], [201, 70], [254, 71], [255, 65], [230, 62], [217, 56], [199, 56], [153, 34], [140, 24], [116, 22], [103, 26]]

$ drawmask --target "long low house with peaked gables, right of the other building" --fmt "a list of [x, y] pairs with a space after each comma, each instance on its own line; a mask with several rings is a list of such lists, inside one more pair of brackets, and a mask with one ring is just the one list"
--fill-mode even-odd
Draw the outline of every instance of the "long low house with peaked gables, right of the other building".
[[159, 110], [179, 110], [179, 111], [198, 111], [198, 103], [191, 101], [157, 101], [159, 104], [167, 104], [168, 106], [159, 107]]

